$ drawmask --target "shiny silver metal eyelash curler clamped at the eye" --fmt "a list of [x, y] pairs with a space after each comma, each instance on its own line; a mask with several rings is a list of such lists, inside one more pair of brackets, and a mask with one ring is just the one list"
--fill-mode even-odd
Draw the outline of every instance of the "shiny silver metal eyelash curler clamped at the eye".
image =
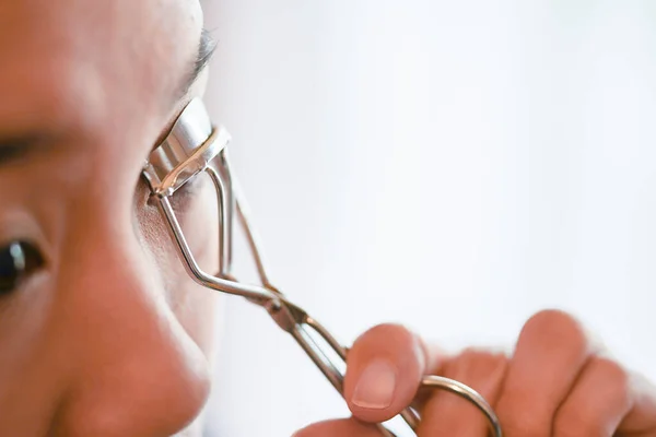
[[[199, 284], [219, 292], [242, 296], [265, 308], [278, 326], [290, 333], [337, 391], [343, 393], [347, 347], [342, 346], [318, 321], [290, 302], [276, 288], [267, 275], [262, 251], [249, 223], [247, 206], [235, 177], [231, 174], [226, 146], [231, 137], [223, 127], [215, 128], [200, 98], [192, 99], [179, 115], [167, 138], [151, 153], [143, 176], [151, 197], [168, 224], [178, 255]], [[171, 203], [171, 197], [186, 182], [207, 173], [219, 201], [219, 271], [208, 274], [198, 265], [185, 239], [181, 226]], [[231, 274], [232, 236], [237, 216], [247, 237], [261, 285], [237, 282]], [[422, 388], [447, 390], [476, 405], [488, 418], [493, 435], [502, 437], [496, 414], [488, 402], [468, 386], [438, 376], [425, 376]], [[407, 408], [393, 420], [378, 424], [387, 437], [417, 436], [418, 412]]]

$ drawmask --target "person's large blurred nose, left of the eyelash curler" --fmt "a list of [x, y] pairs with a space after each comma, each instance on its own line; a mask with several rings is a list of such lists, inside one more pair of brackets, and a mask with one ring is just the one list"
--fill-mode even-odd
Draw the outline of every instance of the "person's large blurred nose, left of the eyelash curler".
[[62, 241], [57, 277], [52, 326], [72, 364], [54, 435], [169, 436], [207, 400], [207, 358], [173, 314], [164, 269], [133, 227], [84, 211]]

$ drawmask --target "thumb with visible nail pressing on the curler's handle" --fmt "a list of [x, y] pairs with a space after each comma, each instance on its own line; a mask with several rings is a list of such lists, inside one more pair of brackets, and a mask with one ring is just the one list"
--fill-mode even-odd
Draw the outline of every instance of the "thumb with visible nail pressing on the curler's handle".
[[360, 336], [349, 351], [344, 398], [365, 422], [384, 422], [409, 405], [424, 371], [440, 353], [398, 324], [382, 324]]

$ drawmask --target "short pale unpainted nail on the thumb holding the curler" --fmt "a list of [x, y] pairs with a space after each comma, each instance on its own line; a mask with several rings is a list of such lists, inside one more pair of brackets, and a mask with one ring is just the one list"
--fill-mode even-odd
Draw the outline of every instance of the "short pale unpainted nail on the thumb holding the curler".
[[385, 359], [368, 365], [355, 386], [353, 404], [362, 409], [383, 410], [391, 405], [396, 389], [396, 368]]

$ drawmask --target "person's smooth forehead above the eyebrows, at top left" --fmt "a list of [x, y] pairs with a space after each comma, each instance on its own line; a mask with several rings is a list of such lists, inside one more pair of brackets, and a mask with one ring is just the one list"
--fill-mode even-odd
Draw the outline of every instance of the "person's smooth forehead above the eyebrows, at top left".
[[0, 129], [165, 111], [200, 28], [195, 0], [0, 0]]

